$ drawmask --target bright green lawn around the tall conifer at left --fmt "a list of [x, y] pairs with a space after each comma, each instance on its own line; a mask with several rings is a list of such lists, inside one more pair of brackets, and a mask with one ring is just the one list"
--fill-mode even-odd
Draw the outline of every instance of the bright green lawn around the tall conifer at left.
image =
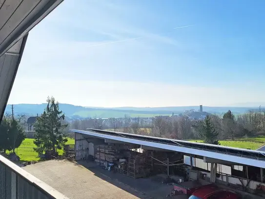
[[[16, 149], [16, 154], [20, 157], [20, 161], [38, 161], [40, 158], [38, 157], [38, 153], [36, 153], [33, 148], [36, 145], [33, 143], [34, 139], [26, 138], [20, 147]], [[66, 144], [74, 144], [75, 140], [68, 138]], [[59, 155], [62, 155], [62, 150], [58, 150]]]

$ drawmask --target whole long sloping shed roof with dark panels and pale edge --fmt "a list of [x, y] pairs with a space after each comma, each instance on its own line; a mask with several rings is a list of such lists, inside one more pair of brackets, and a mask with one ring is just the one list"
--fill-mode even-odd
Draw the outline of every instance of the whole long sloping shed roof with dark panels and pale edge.
[[235, 162], [235, 164], [265, 168], [265, 153], [260, 151], [95, 129], [89, 129], [88, 131], [71, 131], [99, 138], [107, 138], [159, 149], [182, 152], [185, 154], [201, 155], [224, 161]]

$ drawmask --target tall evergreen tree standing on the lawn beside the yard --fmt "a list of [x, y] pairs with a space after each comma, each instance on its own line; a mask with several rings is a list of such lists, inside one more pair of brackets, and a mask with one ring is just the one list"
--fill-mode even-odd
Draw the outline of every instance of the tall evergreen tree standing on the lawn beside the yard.
[[55, 102], [54, 97], [48, 97], [47, 107], [34, 124], [36, 152], [42, 154], [45, 150], [52, 150], [55, 154], [56, 149], [62, 149], [67, 142], [67, 138], [63, 136], [63, 129], [67, 124], [62, 124], [62, 120], [64, 114], [59, 110], [59, 103]]

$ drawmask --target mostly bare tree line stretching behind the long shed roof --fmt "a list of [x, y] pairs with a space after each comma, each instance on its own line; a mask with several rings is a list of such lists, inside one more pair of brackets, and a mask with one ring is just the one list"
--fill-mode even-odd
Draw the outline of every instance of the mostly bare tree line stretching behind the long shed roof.
[[71, 123], [72, 129], [109, 129], [124, 133], [135, 133], [173, 139], [202, 139], [205, 143], [219, 144], [218, 140], [234, 140], [243, 136], [265, 134], [265, 110], [250, 110], [235, 116], [230, 110], [222, 117], [210, 114], [196, 120], [181, 116], [155, 116], [150, 123], [143, 118], [109, 118], [109, 124], [99, 118], [86, 118]]

